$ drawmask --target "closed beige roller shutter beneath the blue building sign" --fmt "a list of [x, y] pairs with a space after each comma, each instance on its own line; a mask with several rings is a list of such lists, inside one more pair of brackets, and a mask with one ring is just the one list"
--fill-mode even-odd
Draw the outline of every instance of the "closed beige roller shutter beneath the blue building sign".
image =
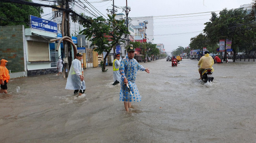
[[28, 41], [28, 61], [50, 61], [48, 43]]

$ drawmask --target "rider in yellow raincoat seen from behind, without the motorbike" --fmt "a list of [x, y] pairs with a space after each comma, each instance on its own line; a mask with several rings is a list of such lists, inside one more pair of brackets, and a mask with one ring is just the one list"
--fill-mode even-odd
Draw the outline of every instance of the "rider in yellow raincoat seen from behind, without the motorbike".
[[200, 79], [202, 79], [202, 71], [204, 71], [204, 69], [212, 69], [212, 71], [214, 71], [213, 69], [213, 58], [211, 56], [209, 56], [209, 51], [206, 50], [204, 51], [204, 56], [202, 56], [197, 64], [197, 66], [199, 67], [198, 71], [200, 74]]

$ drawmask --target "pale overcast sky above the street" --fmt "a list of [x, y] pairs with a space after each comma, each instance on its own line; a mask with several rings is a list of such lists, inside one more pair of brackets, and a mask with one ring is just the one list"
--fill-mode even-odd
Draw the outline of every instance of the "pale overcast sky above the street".
[[[106, 9], [111, 9], [113, 4], [112, 0], [87, 1], [105, 16]], [[200, 34], [204, 23], [209, 22], [211, 12], [218, 14], [224, 8], [239, 8], [251, 2], [253, 0], [127, 0], [128, 7], [131, 7], [128, 17], [154, 16], [154, 44], [163, 43], [167, 52], [178, 46], [189, 46], [190, 38]], [[88, 4], [85, 5], [92, 10]], [[114, 0], [114, 5], [125, 7], [126, 0]], [[121, 8], [117, 10], [117, 13], [124, 13]]]

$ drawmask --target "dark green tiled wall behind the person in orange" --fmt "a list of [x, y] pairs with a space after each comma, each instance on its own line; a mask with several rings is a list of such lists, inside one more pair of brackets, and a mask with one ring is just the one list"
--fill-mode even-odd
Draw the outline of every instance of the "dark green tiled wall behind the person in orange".
[[24, 71], [23, 31], [23, 25], [0, 26], [0, 60], [11, 72]]

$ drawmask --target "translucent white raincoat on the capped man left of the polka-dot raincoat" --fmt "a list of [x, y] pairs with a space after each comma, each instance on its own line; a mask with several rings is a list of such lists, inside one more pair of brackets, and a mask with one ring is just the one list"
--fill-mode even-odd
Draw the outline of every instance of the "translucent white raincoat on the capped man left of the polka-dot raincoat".
[[[82, 74], [81, 61], [74, 59], [69, 69], [67, 83], [65, 89], [77, 90], [81, 89], [80, 75]], [[85, 81], [82, 81], [83, 90], [85, 90]]]

